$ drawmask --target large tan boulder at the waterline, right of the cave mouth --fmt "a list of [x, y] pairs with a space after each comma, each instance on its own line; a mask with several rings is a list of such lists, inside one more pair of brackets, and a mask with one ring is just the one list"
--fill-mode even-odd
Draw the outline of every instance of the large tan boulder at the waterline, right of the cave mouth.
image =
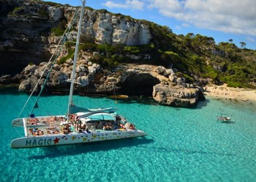
[[162, 83], [154, 86], [152, 95], [159, 104], [175, 107], [194, 107], [203, 96], [198, 88], [170, 86]]

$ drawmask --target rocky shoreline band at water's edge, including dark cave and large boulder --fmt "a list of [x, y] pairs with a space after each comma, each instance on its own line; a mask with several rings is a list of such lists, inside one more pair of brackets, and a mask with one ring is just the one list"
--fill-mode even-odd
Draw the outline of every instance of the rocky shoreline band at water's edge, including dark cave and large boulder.
[[[92, 64], [89, 58], [78, 61], [75, 81], [75, 94], [113, 95], [151, 97], [160, 105], [172, 107], [195, 107], [197, 102], [203, 101], [203, 91], [200, 87], [185, 83], [184, 77], [177, 77], [173, 69], [165, 69], [162, 66], [146, 64], [127, 64], [116, 67], [112, 72], [102, 69], [99, 64]], [[35, 92], [39, 92], [48, 77], [47, 63], [39, 66], [28, 65], [19, 75], [0, 77], [0, 83], [20, 82], [20, 91], [31, 92], [36, 86]], [[45, 85], [46, 94], [67, 94], [69, 83], [67, 80], [71, 74], [72, 60], [63, 65], [53, 65], [48, 82]], [[42, 77], [42, 80], [39, 80]]]

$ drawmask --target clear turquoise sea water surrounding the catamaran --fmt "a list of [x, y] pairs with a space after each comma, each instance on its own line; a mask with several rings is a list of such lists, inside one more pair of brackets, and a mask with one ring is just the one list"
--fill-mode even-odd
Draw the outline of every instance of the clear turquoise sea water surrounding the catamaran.
[[[85, 107], [118, 107], [118, 113], [148, 136], [11, 149], [11, 140], [23, 134], [11, 121], [27, 98], [17, 91], [0, 91], [0, 181], [256, 181], [255, 103], [207, 98], [197, 108], [186, 109], [75, 96], [75, 103]], [[39, 111], [66, 113], [67, 100], [42, 96]], [[232, 115], [233, 122], [216, 121], [219, 108]], [[38, 110], [34, 113], [39, 115]]]

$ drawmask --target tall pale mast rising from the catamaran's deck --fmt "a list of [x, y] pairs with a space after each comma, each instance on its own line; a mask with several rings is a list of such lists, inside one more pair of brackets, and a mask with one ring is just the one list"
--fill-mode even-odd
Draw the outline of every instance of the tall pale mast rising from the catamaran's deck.
[[74, 90], [74, 82], [75, 82], [75, 67], [78, 59], [78, 47], [79, 47], [79, 42], [80, 42], [80, 33], [81, 33], [81, 28], [82, 28], [82, 20], [83, 20], [83, 12], [84, 12], [84, 7], [86, 4], [86, 0], [83, 0], [83, 5], [82, 5], [82, 10], [80, 13], [80, 20], [79, 20], [79, 25], [78, 25], [78, 36], [77, 36], [77, 41], [75, 43], [75, 56], [74, 56], [74, 61], [73, 61], [73, 69], [72, 69], [72, 74], [71, 74], [71, 85], [70, 85], [70, 91], [69, 91], [69, 105], [67, 109], [67, 114], [70, 114], [70, 106], [72, 105], [72, 96], [73, 96], [73, 90]]

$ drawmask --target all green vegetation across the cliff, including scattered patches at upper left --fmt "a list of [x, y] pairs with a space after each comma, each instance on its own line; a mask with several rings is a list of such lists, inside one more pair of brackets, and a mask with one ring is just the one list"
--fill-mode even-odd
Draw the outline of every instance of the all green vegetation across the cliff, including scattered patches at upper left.
[[[67, 5], [39, 0], [30, 1], [30, 3], [30, 8], [25, 8], [25, 5], [13, 4], [12, 10], [7, 11], [8, 15], [27, 16], [38, 18], [32, 19], [34, 21], [45, 21], [49, 13], [46, 5], [67, 7]], [[36, 6], [37, 3], [42, 6]], [[93, 10], [90, 7], [86, 7], [86, 9]], [[233, 39], [227, 39], [227, 42], [217, 44], [212, 37], [193, 33], [177, 35], [167, 26], [159, 26], [157, 23], [147, 20], [135, 20], [119, 13], [113, 14], [108, 10], [97, 11], [115, 15], [118, 17], [117, 21], [120, 21], [121, 18], [126, 21], [140, 21], [148, 26], [151, 40], [148, 45], [98, 45], [93, 36], [82, 35], [80, 49], [99, 53], [91, 56], [91, 61], [105, 67], [126, 63], [162, 65], [182, 73], [183, 77], [191, 82], [199, 78], [210, 78], [214, 83], [227, 83], [227, 86], [256, 88], [256, 50], [246, 49], [245, 42], [240, 42], [240, 48], [233, 44]], [[48, 33], [52, 33], [55, 36], [61, 36], [67, 27], [67, 21], [66, 18], [63, 18], [54, 24], [55, 27], [44, 26], [39, 29], [38, 35], [48, 36]], [[17, 34], [17, 32], [13, 31], [13, 34]], [[66, 47], [69, 53], [60, 59], [59, 64], [72, 58], [74, 54], [73, 42], [67, 42]]]

